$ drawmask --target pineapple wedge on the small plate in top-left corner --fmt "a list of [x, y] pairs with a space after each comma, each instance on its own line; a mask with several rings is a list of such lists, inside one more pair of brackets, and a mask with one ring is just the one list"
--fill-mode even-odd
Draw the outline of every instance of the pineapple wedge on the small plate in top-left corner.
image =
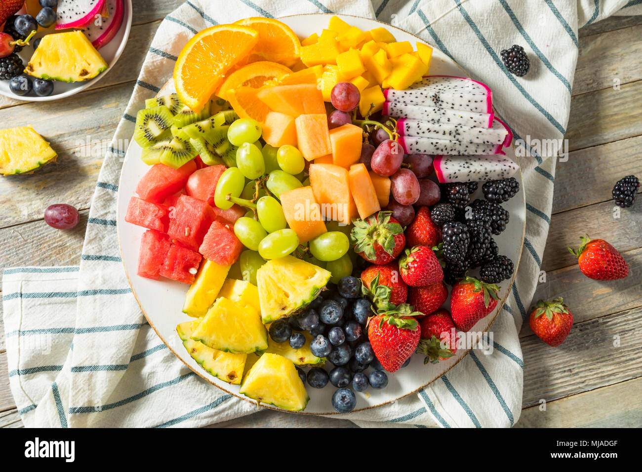
[[45, 35], [24, 71], [60, 82], [91, 80], [107, 70], [107, 62], [82, 31]]

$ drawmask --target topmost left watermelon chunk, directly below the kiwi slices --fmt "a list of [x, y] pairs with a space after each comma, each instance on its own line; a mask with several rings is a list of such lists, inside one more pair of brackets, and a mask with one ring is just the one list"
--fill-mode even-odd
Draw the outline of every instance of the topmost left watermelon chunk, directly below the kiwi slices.
[[194, 160], [178, 169], [173, 169], [165, 164], [154, 164], [138, 182], [136, 193], [143, 200], [160, 203], [169, 195], [180, 191], [195, 170], [196, 162]]

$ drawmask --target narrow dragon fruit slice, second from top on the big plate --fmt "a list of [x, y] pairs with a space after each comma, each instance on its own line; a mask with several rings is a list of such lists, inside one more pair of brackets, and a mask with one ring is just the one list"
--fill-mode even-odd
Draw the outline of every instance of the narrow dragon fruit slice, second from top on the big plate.
[[495, 118], [492, 113], [476, 113], [447, 108], [406, 105], [399, 101], [383, 103], [383, 114], [394, 118], [421, 119], [431, 125], [462, 125], [466, 127], [490, 128]]

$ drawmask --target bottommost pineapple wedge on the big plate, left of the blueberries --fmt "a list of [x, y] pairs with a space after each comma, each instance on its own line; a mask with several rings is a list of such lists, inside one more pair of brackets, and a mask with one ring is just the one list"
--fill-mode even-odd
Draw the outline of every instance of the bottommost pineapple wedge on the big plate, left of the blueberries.
[[310, 399], [294, 363], [270, 353], [263, 354], [247, 372], [239, 393], [293, 412], [304, 410]]

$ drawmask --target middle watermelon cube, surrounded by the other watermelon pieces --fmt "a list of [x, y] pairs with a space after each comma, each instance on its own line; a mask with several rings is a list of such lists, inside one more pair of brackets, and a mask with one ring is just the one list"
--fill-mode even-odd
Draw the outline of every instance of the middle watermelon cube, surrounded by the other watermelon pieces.
[[198, 250], [215, 218], [214, 210], [203, 200], [181, 195], [169, 212], [167, 234], [182, 246]]

